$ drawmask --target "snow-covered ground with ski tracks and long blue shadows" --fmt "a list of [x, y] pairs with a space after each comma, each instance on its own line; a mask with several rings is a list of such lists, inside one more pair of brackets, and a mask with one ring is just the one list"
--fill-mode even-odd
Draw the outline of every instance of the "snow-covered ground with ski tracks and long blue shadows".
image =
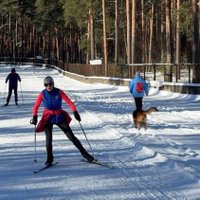
[[[13, 66], [0, 66], [1, 105], [5, 103], [5, 77]], [[134, 101], [127, 87], [84, 84], [56, 70], [16, 66], [22, 78], [19, 106], [11, 97], [0, 109], [0, 199], [63, 200], [191, 200], [200, 199], [199, 96], [150, 89], [144, 109], [156, 106], [148, 116], [148, 129], [132, 123]], [[35, 154], [32, 107], [51, 75], [55, 86], [75, 102], [87, 143], [73, 113], [71, 128], [85, 148], [114, 169], [82, 162], [79, 151], [54, 126], [54, 158], [59, 164], [34, 174], [46, 160], [44, 133], [37, 134]], [[39, 111], [41, 116], [42, 108]], [[34, 159], [37, 162], [34, 162]]]

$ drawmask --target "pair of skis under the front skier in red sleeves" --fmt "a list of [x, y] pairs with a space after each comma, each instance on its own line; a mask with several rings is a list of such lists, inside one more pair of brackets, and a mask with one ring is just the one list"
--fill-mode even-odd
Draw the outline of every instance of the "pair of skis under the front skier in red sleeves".
[[[101, 166], [101, 167], [105, 167], [105, 168], [109, 168], [109, 169], [114, 169], [113, 166], [111, 166], [111, 165], [109, 165], [109, 164], [107, 164], [107, 163], [100, 162], [100, 161], [98, 161], [98, 160], [94, 160], [94, 161], [92, 161], [92, 162], [89, 162], [88, 160], [81, 160], [81, 161], [86, 162], [86, 163], [88, 163], [88, 164], [94, 164], [94, 165], [98, 165], [98, 166]], [[40, 169], [38, 169], [38, 170], [33, 171], [33, 173], [34, 173], [34, 174], [38, 174], [38, 173], [40, 173], [40, 172], [42, 172], [42, 171], [44, 171], [44, 170], [47, 170], [47, 169], [49, 169], [49, 168], [51, 168], [51, 167], [57, 165], [58, 163], [59, 163], [59, 162], [55, 162], [55, 163], [52, 163], [51, 165], [46, 165], [46, 166], [44, 166], [44, 167], [42, 167], [42, 168], [40, 168]]]

